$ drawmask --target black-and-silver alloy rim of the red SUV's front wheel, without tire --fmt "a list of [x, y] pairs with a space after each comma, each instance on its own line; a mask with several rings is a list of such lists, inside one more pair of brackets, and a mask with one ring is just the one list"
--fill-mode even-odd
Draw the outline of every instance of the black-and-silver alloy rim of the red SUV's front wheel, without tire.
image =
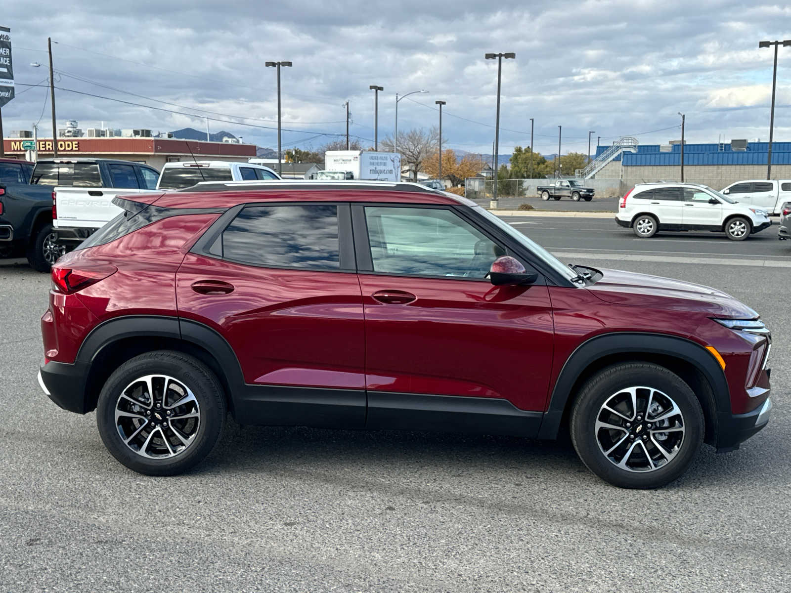
[[678, 455], [685, 422], [669, 395], [653, 387], [627, 387], [602, 404], [594, 432], [599, 450], [613, 465], [649, 472]]

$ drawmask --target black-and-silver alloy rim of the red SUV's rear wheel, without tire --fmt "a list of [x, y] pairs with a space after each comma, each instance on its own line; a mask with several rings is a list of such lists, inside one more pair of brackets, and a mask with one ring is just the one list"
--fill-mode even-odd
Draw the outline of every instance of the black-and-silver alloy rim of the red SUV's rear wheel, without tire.
[[192, 391], [167, 375], [146, 375], [121, 391], [115, 402], [115, 428], [123, 444], [149, 459], [183, 453], [201, 421]]

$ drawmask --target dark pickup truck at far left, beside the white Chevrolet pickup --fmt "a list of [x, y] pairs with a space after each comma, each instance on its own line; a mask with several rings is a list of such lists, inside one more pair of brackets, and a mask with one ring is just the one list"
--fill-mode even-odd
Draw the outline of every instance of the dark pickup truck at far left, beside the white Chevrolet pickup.
[[156, 169], [130, 161], [58, 158], [40, 159], [34, 166], [0, 159], [0, 257], [25, 255], [34, 270], [48, 271], [66, 251], [52, 228], [55, 187], [130, 188], [129, 175], [118, 165], [158, 176]]

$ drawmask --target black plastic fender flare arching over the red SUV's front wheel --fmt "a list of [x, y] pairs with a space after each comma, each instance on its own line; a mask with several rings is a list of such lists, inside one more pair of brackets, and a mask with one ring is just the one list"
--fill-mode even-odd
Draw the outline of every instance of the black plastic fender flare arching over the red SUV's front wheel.
[[731, 403], [728, 382], [725, 380], [725, 372], [708, 350], [686, 338], [667, 334], [617, 332], [599, 335], [583, 342], [563, 364], [541, 422], [540, 439], [554, 439], [558, 435], [566, 404], [573, 395], [574, 383], [585, 368], [603, 357], [621, 353], [660, 354], [693, 364], [711, 386], [717, 425], [729, 423]]

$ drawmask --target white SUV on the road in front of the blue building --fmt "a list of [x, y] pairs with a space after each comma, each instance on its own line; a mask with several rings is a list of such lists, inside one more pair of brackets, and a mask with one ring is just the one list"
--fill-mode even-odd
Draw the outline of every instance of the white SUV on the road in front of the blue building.
[[638, 183], [618, 205], [615, 222], [641, 239], [657, 231], [717, 231], [734, 241], [772, 225], [766, 210], [740, 204], [699, 183]]

